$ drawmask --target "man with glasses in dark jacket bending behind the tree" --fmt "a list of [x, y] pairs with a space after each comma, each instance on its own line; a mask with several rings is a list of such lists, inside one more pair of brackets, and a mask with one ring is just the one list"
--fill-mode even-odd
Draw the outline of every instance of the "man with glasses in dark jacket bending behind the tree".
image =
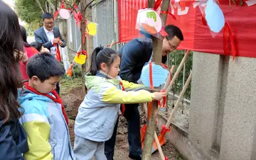
[[[167, 25], [165, 31], [168, 35], [163, 40], [162, 63], [166, 63], [167, 55], [176, 50], [181, 40], [183, 40], [181, 30], [175, 25]], [[127, 42], [119, 50], [120, 55], [122, 55], [119, 76], [123, 80], [137, 83], [142, 73], [142, 67], [151, 60], [152, 52], [153, 44], [150, 38], [136, 38]], [[142, 159], [138, 105], [126, 104], [124, 111], [124, 117], [128, 122], [129, 158], [136, 160]], [[114, 156], [117, 124], [118, 120], [112, 138], [105, 142], [107, 160], [112, 160]]]

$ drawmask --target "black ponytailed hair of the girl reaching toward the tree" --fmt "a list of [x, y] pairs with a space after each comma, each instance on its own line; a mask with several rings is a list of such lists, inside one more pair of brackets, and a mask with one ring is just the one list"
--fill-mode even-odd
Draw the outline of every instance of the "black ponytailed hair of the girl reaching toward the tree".
[[100, 70], [100, 64], [105, 63], [107, 67], [110, 67], [118, 56], [117, 51], [111, 48], [96, 47], [92, 52], [92, 63], [89, 72], [92, 76], [95, 76], [97, 71]]

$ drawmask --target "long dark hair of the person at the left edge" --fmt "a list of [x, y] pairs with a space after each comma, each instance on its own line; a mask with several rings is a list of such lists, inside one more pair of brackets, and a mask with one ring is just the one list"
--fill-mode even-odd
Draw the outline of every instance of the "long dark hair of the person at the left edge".
[[19, 58], [14, 51], [23, 52], [18, 16], [0, 1], [0, 120], [6, 122], [10, 118], [19, 118], [18, 90], [21, 76], [18, 69]]

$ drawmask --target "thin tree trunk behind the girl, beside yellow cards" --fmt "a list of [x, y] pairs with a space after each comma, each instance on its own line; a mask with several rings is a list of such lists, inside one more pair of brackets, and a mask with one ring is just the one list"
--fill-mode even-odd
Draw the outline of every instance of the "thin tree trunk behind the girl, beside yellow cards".
[[[85, 11], [85, 6], [86, 6], [86, 0], [82, 0], [80, 1], [80, 6], [81, 6], [81, 13], [82, 16], [85, 18], [86, 17], [86, 11]], [[87, 42], [86, 42], [86, 38], [85, 38], [85, 42], [82, 43], [82, 33], [85, 33], [85, 23], [81, 22], [81, 50], [87, 50]], [[86, 62], [85, 64], [82, 64], [82, 91], [85, 95], [85, 77], [83, 75], [85, 75], [86, 73]]]

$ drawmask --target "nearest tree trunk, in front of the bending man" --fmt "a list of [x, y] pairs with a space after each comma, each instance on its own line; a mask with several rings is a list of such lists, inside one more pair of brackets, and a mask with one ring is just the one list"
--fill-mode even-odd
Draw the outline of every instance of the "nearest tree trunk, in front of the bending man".
[[[148, 0], [148, 7], [153, 8], [154, 7], [154, 0]], [[169, 9], [170, 0], [163, 0], [161, 11], [168, 11]], [[161, 18], [164, 22], [163, 25], [166, 23], [167, 14], [162, 14]], [[154, 36], [151, 36], [153, 41], [153, 62], [156, 64], [161, 64], [161, 56], [162, 56], [162, 47], [163, 47], [163, 40], [160, 40], [159, 38], [155, 38]], [[158, 115], [158, 103], [157, 101], [153, 102], [153, 111], [151, 115], [151, 120], [149, 120], [148, 125], [146, 127], [146, 137], [144, 141], [144, 150], [142, 153], [142, 159], [143, 160], [149, 160], [151, 157], [151, 151], [154, 141], [154, 132], [156, 130], [156, 118]]]

